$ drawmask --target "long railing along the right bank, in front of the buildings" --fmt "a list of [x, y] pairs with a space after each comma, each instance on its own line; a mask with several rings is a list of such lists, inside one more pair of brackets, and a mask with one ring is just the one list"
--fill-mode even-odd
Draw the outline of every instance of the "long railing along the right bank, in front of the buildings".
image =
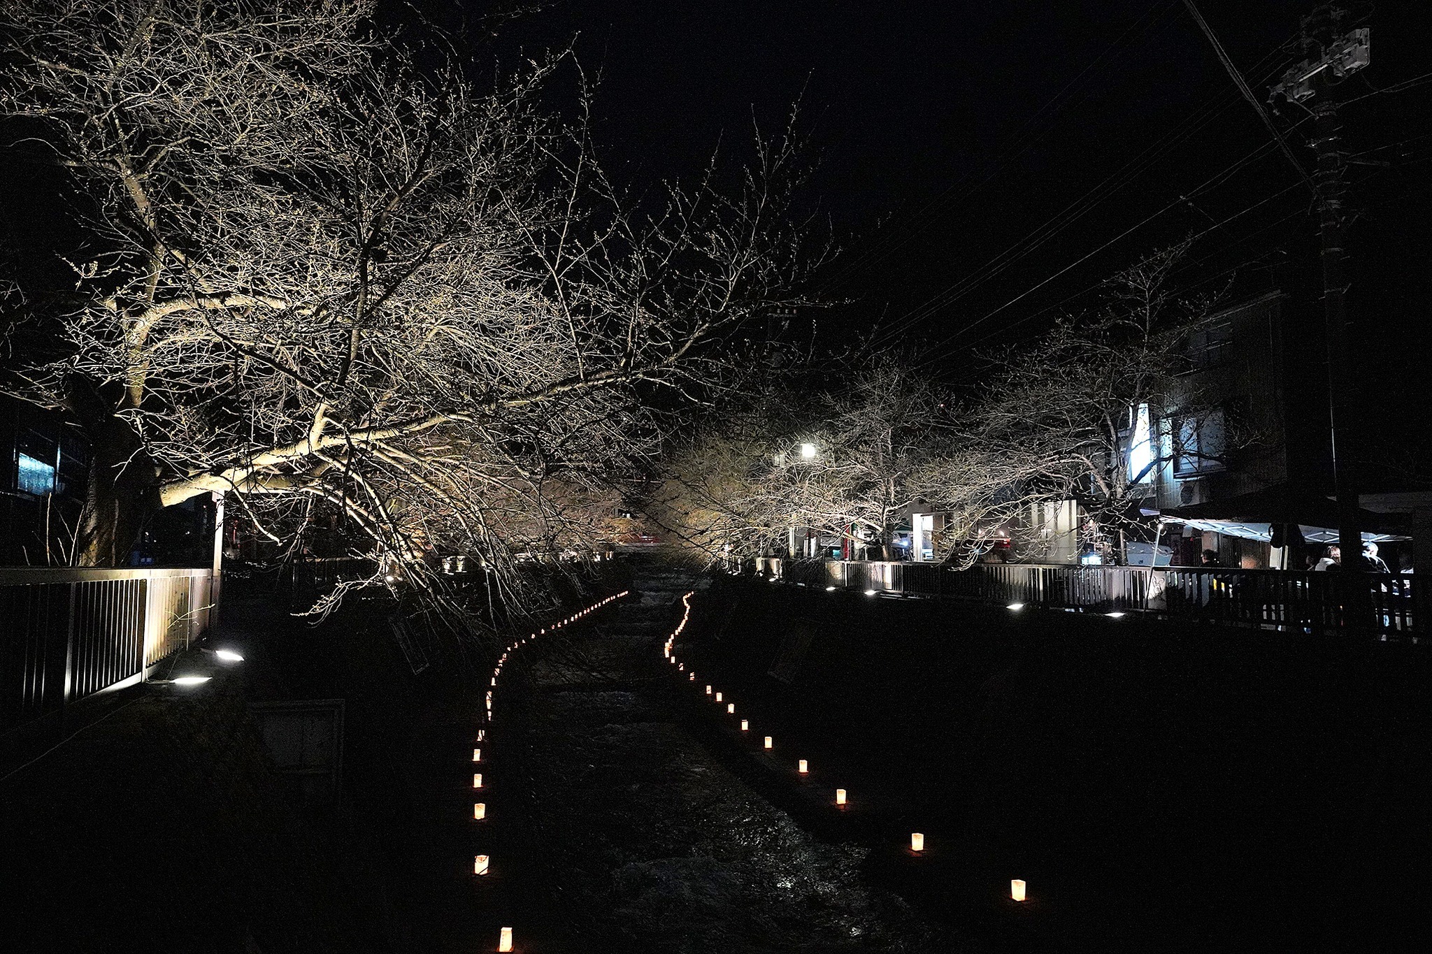
[[1362, 614], [1360, 629], [1419, 634], [1421, 598], [1411, 574], [1048, 564], [975, 564], [954, 569], [935, 564], [780, 558], [758, 558], [750, 568], [806, 586], [1085, 612], [1141, 612], [1286, 632], [1346, 631], [1358, 622], [1355, 614]]

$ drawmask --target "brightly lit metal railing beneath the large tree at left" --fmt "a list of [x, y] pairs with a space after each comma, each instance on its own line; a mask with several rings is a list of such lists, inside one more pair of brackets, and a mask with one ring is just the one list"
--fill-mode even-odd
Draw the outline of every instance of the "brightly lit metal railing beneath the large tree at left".
[[143, 679], [211, 624], [211, 569], [0, 568], [0, 735]]

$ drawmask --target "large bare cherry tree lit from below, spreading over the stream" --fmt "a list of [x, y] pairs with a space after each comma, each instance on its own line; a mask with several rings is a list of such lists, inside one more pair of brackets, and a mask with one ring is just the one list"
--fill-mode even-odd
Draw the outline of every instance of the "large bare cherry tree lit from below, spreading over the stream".
[[[337, 515], [420, 585], [425, 554], [589, 548], [662, 438], [653, 396], [720, 380], [713, 343], [795, 300], [793, 137], [636, 205], [569, 57], [478, 87], [371, 13], [0, 11], [0, 110], [90, 235], [70, 290], [11, 309], [50, 350], [9, 369], [93, 446], [82, 562], [123, 562], [153, 512], [209, 493], [284, 545]], [[574, 122], [538, 104], [563, 84]]]

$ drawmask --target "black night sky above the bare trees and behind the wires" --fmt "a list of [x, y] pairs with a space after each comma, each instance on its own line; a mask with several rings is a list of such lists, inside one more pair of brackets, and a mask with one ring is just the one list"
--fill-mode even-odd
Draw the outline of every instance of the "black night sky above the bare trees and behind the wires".
[[[1300, 59], [1312, 3], [1199, 6], [1259, 97]], [[1369, 14], [1372, 64], [1343, 87], [1360, 97], [1342, 110], [1346, 150], [1380, 164], [1349, 173], [1350, 315], [1376, 418], [1422, 400], [1426, 355], [1408, 345], [1432, 308], [1432, 30], [1422, 3], [1352, 9]], [[1038, 333], [1190, 233], [1180, 283], [1236, 276], [1230, 300], [1277, 285], [1295, 330], [1320, 333], [1310, 193], [1181, 0], [566, 1], [491, 39], [508, 62], [569, 41], [600, 72], [597, 140], [633, 183], [693, 176], [753, 113], [775, 127], [803, 96], [812, 193], [845, 249], [822, 289], [849, 300], [819, 319], [826, 343], [878, 325], [879, 343], [912, 342], [958, 376], [978, 366], [971, 348]], [[1312, 170], [1312, 123], [1279, 109]]]

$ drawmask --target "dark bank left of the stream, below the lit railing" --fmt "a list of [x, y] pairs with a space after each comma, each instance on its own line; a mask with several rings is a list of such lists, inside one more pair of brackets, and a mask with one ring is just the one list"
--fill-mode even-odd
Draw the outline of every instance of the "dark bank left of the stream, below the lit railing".
[[[557, 595], [581, 602], [570, 586]], [[474, 841], [464, 757], [478, 675], [437, 658], [415, 675], [385, 596], [351, 599], [319, 626], [285, 615], [262, 581], [229, 579], [223, 598], [215, 641], [239, 648], [242, 667], [198, 691], [126, 689], [127, 704], [0, 781], [6, 947], [495, 948], [504, 900], [474, 894], [473, 852], [518, 852]], [[248, 704], [334, 698], [342, 792], [311, 804], [272, 769]], [[500, 818], [501, 795], [488, 802]]]

